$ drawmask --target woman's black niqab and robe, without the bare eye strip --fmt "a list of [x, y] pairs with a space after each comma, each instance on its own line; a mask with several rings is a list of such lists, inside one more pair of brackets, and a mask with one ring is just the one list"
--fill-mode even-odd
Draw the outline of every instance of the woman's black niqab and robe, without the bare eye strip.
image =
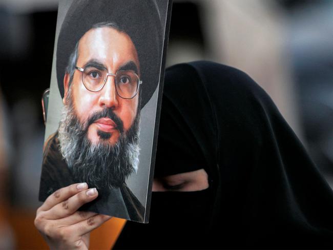
[[115, 248], [333, 248], [333, 194], [269, 96], [197, 61], [165, 71], [154, 178], [204, 169], [209, 188], [153, 192]]

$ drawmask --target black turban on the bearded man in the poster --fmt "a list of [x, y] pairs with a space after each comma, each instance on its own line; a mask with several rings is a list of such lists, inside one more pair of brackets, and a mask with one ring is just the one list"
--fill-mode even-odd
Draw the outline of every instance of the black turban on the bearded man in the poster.
[[77, 41], [95, 24], [115, 23], [127, 33], [138, 52], [140, 62], [141, 108], [149, 101], [158, 81], [161, 65], [162, 29], [155, 0], [76, 0], [61, 25], [56, 70], [61, 97], [64, 97], [64, 75]]

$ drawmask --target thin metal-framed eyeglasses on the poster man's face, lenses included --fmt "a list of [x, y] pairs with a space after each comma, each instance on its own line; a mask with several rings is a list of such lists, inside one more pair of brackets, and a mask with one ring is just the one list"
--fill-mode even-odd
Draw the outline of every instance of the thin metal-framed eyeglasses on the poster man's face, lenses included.
[[123, 99], [132, 99], [139, 91], [139, 86], [142, 81], [139, 76], [133, 70], [118, 70], [116, 74], [108, 73], [105, 68], [86, 67], [75, 68], [82, 72], [82, 82], [87, 90], [92, 92], [100, 91], [109, 75], [115, 77], [115, 85], [117, 94]]

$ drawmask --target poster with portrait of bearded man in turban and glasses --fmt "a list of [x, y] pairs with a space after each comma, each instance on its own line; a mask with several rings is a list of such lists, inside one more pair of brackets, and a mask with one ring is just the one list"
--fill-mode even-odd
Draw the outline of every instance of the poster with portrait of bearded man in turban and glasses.
[[87, 183], [80, 210], [149, 221], [171, 1], [60, 1], [39, 200]]

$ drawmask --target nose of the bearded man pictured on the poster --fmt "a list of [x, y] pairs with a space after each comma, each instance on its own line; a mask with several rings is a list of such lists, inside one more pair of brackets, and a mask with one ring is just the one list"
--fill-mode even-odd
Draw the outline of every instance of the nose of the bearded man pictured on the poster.
[[104, 87], [100, 90], [99, 106], [116, 109], [118, 107], [118, 94], [115, 85], [115, 76], [108, 75]]

